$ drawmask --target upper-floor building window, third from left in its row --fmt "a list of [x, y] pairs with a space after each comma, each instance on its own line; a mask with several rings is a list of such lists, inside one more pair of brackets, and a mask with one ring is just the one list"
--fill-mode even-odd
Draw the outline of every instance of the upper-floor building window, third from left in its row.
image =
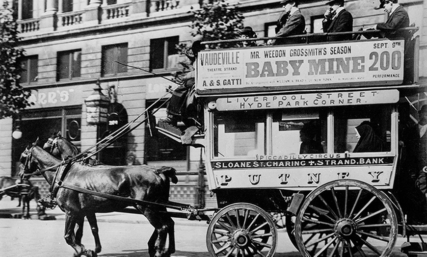
[[101, 76], [114, 75], [128, 71], [128, 43], [102, 47]]

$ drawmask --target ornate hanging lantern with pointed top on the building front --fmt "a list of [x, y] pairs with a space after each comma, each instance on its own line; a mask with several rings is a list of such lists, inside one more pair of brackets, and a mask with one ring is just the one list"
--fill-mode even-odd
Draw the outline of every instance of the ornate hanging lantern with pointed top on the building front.
[[94, 92], [84, 100], [86, 104], [86, 122], [90, 125], [97, 125], [107, 122], [108, 113], [108, 98], [101, 92], [101, 83], [98, 79], [96, 82], [97, 88]]

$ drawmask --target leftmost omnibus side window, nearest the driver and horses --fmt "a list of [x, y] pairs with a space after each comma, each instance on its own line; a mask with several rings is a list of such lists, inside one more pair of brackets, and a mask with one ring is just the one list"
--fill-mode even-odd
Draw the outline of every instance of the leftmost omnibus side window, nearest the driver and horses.
[[213, 126], [215, 157], [265, 154], [265, 111], [215, 113]]

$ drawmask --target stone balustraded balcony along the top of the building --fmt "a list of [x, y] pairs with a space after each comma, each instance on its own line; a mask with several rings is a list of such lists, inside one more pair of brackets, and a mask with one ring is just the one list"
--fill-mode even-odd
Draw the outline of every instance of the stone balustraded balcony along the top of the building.
[[20, 36], [25, 39], [45, 33], [184, 15], [191, 8], [199, 8], [200, 2], [201, 0], [129, 0], [111, 5], [87, 5], [82, 10], [72, 12], [51, 10], [39, 17], [18, 19], [17, 23]]

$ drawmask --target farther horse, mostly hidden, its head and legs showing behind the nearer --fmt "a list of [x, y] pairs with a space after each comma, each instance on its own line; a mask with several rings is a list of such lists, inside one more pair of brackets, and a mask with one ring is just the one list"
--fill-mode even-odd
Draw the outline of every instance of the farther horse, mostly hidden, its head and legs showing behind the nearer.
[[[63, 138], [60, 132], [56, 135], [53, 134], [48, 138], [48, 141], [43, 145], [43, 149], [52, 154], [53, 157], [60, 160], [80, 154], [79, 149], [73, 143]], [[99, 239], [98, 224], [95, 213], [88, 213], [86, 215], [86, 219], [89, 222], [90, 230], [92, 231], [93, 238], [95, 239], [95, 253], [100, 253], [102, 246]], [[83, 236], [83, 221], [84, 217], [76, 220], [76, 242], [78, 243], [81, 243], [81, 237]]]

